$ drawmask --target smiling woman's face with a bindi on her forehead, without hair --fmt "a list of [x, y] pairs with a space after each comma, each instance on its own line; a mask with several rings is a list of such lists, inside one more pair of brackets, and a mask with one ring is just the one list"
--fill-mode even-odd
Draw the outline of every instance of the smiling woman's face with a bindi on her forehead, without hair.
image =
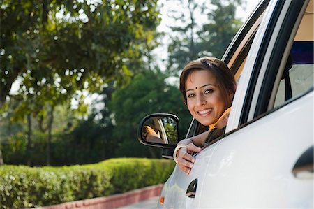
[[204, 126], [214, 124], [227, 108], [216, 76], [208, 70], [195, 70], [188, 75], [186, 98], [190, 114]]

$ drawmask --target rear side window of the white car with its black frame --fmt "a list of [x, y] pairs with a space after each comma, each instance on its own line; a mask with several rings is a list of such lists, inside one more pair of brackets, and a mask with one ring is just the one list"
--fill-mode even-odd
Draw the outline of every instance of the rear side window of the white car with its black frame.
[[[272, 19], [264, 34], [266, 38], [257, 51], [248, 82], [239, 126], [264, 117], [274, 108], [293, 101], [313, 87], [313, 61], [307, 59], [305, 62], [304, 59], [304, 53], [313, 57], [313, 1], [308, 2], [277, 1], [273, 5]], [[299, 34], [303, 34], [302, 38]], [[301, 79], [296, 75], [303, 76], [300, 77], [303, 79], [305, 76], [308, 81], [297, 85]], [[285, 78], [289, 78], [290, 82]], [[290, 95], [287, 85], [293, 86]]]

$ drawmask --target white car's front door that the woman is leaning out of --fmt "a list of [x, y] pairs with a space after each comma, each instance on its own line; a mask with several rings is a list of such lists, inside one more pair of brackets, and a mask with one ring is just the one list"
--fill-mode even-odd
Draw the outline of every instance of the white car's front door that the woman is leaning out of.
[[[268, 3], [269, 1], [262, 1], [257, 6], [251, 17], [241, 27], [224, 55], [223, 59], [236, 78], [239, 78], [239, 72], [243, 69], [245, 58], [251, 48], [257, 27], [262, 20], [262, 15]], [[200, 134], [205, 129], [208, 129], [208, 127], [203, 127], [196, 120], [193, 120], [186, 138]], [[207, 147], [195, 156], [197, 160], [190, 175], [181, 172], [177, 166], [174, 168], [172, 175], [165, 182], [160, 201], [158, 202], [158, 208], [199, 208], [200, 201], [203, 198], [201, 194], [206, 192], [206, 189], [202, 192], [203, 183], [207, 181], [205, 171], [211, 161], [211, 157], [215, 153], [216, 145], [218, 144]], [[190, 192], [189, 187], [194, 188], [194, 192]]]

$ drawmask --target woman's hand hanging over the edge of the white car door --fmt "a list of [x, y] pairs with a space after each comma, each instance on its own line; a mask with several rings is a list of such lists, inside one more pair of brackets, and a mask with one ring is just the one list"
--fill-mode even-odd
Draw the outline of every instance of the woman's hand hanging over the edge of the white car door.
[[191, 169], [193, 168], [195, 158], [192, 156], [193, 152], [200, 152], [201, 148], [195, 146], [193, 143], [189, 143], [186, 147], [182, 147], [177, 152], [177, 161], [178, 166], [186, 173], [190, 174]]

